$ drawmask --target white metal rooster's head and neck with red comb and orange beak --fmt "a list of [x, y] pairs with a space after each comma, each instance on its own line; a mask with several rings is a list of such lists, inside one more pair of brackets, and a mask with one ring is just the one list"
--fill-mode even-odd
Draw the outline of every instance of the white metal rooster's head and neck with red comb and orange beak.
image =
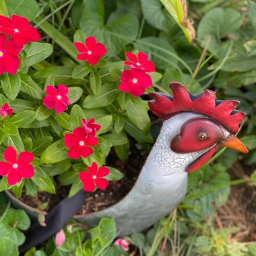
[[234, 108], [236, 100], [220, 101], [216, 92], [191, 94], [170, 84], [173, 96], [152, 92], [152, 113], [163, 121], [139, 177], [121, 201], [79, 220], [95, 226], [102, 217], [113, 217], [121, 236], [139, 232], [166, 216], [185, 197], [188, 172], [207, 162], [219, 146], [247, 153], [234, 133], [245, 113]]

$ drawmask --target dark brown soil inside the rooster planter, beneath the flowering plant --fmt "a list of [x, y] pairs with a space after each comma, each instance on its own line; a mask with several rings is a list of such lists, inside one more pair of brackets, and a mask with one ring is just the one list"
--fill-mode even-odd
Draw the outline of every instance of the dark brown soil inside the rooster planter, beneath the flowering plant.
[[[117, 158], [115, 151], [112, 150], [106, 159], [106, 166], [113, 166], [123, 172], [124, 177], [121, 181], [108, 183], [105, 191], [97, 189], [93, 193], [88, 193], [83, 208], [77, 214], [88, 214], [90, 212], [98, 212], [109, 205], [113, 205], [120, 201], [133, 187], [139, 172], [146, 161], [148, 154], [141, 150], [139, 144], [132, 142], [129, 159], [123, 162]], [[55, 205], [63, 200], [69, 194], [70, 186], [61, 186], [58, 181], [56, 194], [50, 194], [44, 191], [38, 192], [37, 197], [26, 195], [25, 191], [22, 193], [21, 200], [31, 207], [40, 209], [42, 203], [48, 203], [44, 212], [50, 212]]]

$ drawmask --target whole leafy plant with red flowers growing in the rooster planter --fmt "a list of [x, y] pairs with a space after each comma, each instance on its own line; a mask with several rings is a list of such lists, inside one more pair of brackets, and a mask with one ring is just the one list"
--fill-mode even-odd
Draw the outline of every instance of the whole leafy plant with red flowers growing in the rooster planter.
[[[151, 142], [148, 107], [139, 96], [160, 79], [143, 52], [109, 62], [94, 36], [77, 30], [75, 62], [52, 66], [44, 61], [51, 44], [26, 18], [0, 16], [0, 191], [16, 197], [25, 189], [55, 193], [57, 183], [80, 189], [106, 189], [123, 174], [106, 166], [113, 148], [121, 160], [129, 137]], [[9, 64], [11, 63], [11, 64]]]

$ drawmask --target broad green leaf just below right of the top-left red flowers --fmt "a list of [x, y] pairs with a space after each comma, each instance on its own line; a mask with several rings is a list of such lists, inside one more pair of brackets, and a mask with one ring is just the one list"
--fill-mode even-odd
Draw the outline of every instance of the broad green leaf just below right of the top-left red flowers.
[[53, 46], [45, 42], [31, 42], [24, 46], [26, 59], [24, 65], [30, 67], [49, 57], [53, 53]]

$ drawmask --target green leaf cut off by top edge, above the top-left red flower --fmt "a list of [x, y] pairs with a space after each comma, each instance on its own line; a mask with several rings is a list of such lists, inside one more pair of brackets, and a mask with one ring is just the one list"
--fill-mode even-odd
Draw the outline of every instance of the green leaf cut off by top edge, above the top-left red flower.
[[26, 17], [28, 20], [34, 20], [38, 15], [40, 9], [36, 0], [19, 1], [16, 0], [5, 0], [9, 16], [16, 14], [22, 17]]

